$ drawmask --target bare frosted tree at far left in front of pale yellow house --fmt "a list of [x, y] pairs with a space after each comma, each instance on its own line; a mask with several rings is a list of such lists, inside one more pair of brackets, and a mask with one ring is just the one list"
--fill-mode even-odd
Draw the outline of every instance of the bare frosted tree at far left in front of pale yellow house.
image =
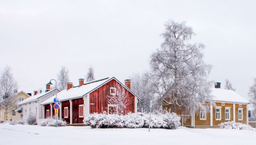
[[0, 78], [0, 106], [5, 111], [6, 119], [7, 114], [16, 107], [16, 101], [13, 100], [13, 90], [17, 89], [18, 85], [15, 81], [11, 68], [6, 66]]

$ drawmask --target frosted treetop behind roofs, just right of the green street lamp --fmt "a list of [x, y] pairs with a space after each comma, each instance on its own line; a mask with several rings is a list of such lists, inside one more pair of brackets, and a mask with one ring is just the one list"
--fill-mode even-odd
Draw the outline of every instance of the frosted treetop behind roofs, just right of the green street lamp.
[[67, 68], [62, 66], [60, 72], [57, 74], [58, 75], [57, 85], [60, 91], [67, 89], [67, 82], [69, 82], [68, 73], [69, 71], [67, 70]]

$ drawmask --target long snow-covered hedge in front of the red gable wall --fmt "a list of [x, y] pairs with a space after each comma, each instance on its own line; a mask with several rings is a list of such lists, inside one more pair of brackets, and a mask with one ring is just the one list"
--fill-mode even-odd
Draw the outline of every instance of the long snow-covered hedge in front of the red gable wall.
[[[154, 112], [151, 114], [150, 128], [177, 129], [180, 125], [180, 117], [176, 113]], [[148, 113], [128, 113], [127, 115], [90, 114], [84, 119], [85, 125], [92, 128], [148, 128]]]

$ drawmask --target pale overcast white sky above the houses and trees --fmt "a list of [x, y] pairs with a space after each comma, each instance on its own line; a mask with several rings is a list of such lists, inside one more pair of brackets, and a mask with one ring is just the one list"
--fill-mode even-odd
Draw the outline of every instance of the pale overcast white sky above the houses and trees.
[[164, 23], [186, 21], [206, 45], [209, 80], [229, 79], [248, 98], [256, 77], [255, 1], [0, 1], [0, 71], [12, 68], [19, 91], [45, 89], [61, 66], [78, 85], [90, 65], [96, 79], [120, 81], [149, 69]]

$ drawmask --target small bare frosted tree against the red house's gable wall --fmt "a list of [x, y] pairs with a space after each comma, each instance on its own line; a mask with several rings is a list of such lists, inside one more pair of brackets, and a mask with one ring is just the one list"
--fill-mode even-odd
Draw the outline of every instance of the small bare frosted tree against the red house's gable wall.
[[127, 107], [132, 103], [133, 98], [131, 98], [127, 90], [120, 84], [116, 84], [114, 88], [116, 88], [115, 92], [110, 92], [113, 95], [107, 96], [107, 104], [116, 105], [114, 107], [115, 113], [125, 115], [128, 113]]

